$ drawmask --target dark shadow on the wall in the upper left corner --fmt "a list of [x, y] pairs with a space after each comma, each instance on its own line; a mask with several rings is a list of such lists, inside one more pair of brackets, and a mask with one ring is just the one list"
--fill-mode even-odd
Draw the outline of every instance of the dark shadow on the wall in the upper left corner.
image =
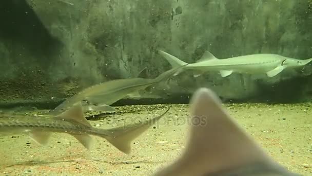
[[[23, 0], [0, 1], [0, 40], [11, 48], [25, 49], [40, 65], [49, 65], [50, 57], [63, 47], [53, 38], [33, 9]], [[17, 54], [16, 54], [17, 55]], [[10, 57], [18, 63], [18, 57]]]

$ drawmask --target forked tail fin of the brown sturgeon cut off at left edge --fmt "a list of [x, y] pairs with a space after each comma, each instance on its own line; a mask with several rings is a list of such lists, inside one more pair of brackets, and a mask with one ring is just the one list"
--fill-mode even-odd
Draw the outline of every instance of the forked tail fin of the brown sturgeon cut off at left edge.
[[145, 120], [143, 122], [108, 129], [112, 137], [105, 137], [109, 143], [118, 148], [120, 151], [129, 154], [131, 151], [131, 142], [133, 139], [139, 137], [149, 127], [153, 126], [159, 119], [161, 119], [170, 108], [168, 108], [162, 115]]

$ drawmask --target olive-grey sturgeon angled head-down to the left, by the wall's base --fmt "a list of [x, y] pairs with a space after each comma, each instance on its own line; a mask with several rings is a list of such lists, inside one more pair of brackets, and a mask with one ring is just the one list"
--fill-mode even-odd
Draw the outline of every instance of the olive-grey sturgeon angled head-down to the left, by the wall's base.
[[84, 103], [84, 112], [92, 110], [114, 111], [114, 108], [109, 106], [110, 104], [127, 97], [131, 93], [138, 92], [140, 90], [146, 89], [146, 87], [148, 86], [168, 80], [175, 72], [178, 72], [179, 69], [181, 69], [182, 67], [183, 66], [172, 68], [154, 79], [115, 79], [90, 86], [82, 92], [65, 100], [49, 114], [60, 114], [61, 112], [70, 108], [74, 103], [79, 101], [83, 101]]

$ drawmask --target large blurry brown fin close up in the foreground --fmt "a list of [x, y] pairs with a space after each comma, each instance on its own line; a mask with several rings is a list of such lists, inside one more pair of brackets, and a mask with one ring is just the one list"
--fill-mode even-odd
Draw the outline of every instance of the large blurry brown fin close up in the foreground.
[[154, 175], [297, 175], [270, 159], [212, 91], [194, 93], [190, 111], [200, 119], [191, 120], [199, 123], [190, 127], [185, 151]]

